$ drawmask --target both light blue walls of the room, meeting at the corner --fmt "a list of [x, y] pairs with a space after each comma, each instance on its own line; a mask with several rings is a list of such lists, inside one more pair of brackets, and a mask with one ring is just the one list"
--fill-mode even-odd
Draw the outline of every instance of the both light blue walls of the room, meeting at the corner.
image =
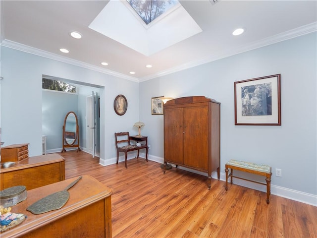
[[[115, 158], [113, 133], [137, 133], [145, 122], [150, 157], [163, 157], [163, 116], [151, 115], [151, 98], [203, 95], [221, 103], [221, 165], [230, 159], [272, 166], [272, 184], [317, 194], [317, 37], [316, 33], [216, 60], [142, 83], [1, 47], [1, 127], [6, 145], [30, 143], [42, 152], [42, 74], [89, 82], [101, 94], [101, 158]], [[281, 126], [234, 125], [235, 81], [281, 74]], [[127, 113], [114, 113], [123, 94]], [[282, 178], [275, 177], [282, 169]]]

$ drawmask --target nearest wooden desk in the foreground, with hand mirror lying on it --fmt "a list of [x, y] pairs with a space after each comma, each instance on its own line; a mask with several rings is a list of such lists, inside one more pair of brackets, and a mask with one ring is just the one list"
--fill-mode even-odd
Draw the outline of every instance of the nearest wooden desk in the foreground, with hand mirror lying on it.
[[12, 213], [27, 218], [18, 226], [1, 233], [1, 238], [111, 238], [112, 190], [89, 175], [84, 175], [68, 192], [60, 209], [34, 215], [26, 208], [39, 199], [63, 190], [78, 177], [27, 191], [26, 200], [12, 207]]

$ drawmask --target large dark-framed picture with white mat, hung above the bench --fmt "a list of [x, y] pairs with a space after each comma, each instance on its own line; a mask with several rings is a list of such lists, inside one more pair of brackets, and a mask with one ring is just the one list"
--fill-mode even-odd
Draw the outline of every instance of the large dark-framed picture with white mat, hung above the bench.
[[234, 82], [235, 125], [281, 125], [281, 75]]

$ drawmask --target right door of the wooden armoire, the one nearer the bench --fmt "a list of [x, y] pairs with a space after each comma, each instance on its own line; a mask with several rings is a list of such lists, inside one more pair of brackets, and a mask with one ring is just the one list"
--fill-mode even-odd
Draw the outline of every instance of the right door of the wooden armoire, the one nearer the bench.
[[208, 171], [209, 107], [184, 108], [184, 164]]

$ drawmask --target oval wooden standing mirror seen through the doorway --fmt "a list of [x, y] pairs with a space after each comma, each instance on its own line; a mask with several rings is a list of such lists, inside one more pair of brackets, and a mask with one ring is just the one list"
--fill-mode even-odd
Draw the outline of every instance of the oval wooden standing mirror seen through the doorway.
[[[77, 143], [76, 143], [77, 142]], [[63, 125], [63, 148], [62, 151], [66, 151], [65, 148], [78, 147], [79, 148], [79, 126], [77, 115], [74, 112], [67, 113], [64, 119]]]

